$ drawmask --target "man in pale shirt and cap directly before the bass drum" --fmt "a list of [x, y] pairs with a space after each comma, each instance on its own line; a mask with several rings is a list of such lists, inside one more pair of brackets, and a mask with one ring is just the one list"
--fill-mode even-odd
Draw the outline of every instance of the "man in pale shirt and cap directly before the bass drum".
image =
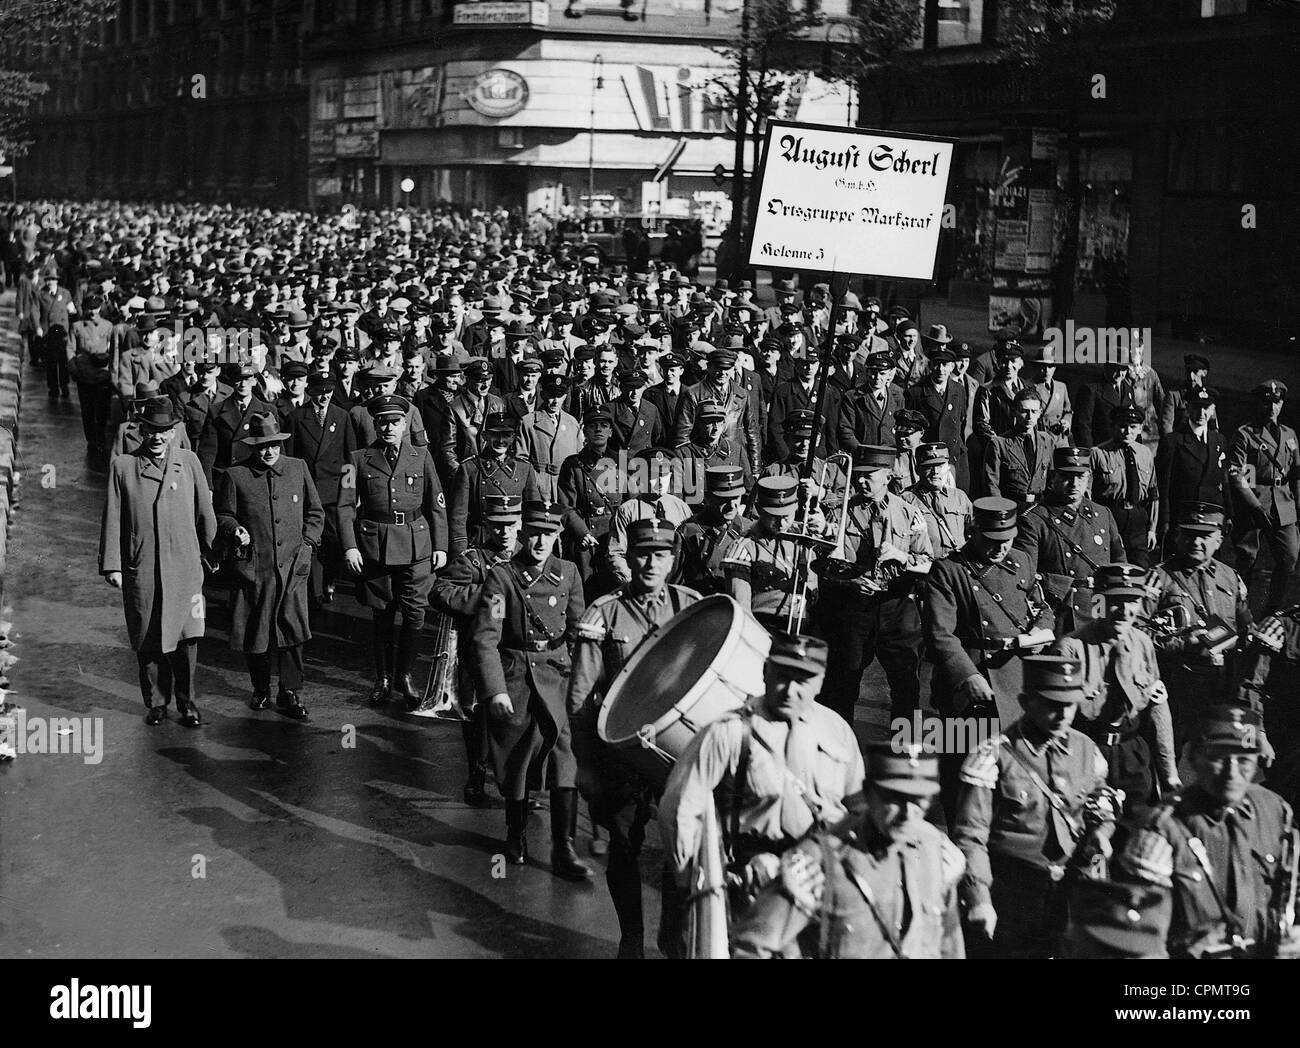
[[659, 943], [666, 952], [677, 956], [681, 948], [680, 889], [696, 862], [706, 805], [718, 805], [729, 872], [741, 883], [742, 897], [732, 897], [737, 917], [776, 875], [780, 854], [810, 830], [840, 819], [845, 797], [862, 789], [853, 728], [816, 702], [826, 654], [826, 642], [815, 637], [774, 635], [763, 694], [705, 727], [673, 766], [659, 805], [660, 836], [679, 888], [664, 893]]

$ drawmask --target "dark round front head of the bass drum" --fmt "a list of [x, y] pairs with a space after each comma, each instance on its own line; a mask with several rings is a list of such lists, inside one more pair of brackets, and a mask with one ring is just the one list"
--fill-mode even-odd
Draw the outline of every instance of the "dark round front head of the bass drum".
[[685, 698], [727, 645], [734, 622], [734, 605], [725, 597], [706, 598], [677, 615], [633, 655], [610, 690], [604, 739], [630, 739]]

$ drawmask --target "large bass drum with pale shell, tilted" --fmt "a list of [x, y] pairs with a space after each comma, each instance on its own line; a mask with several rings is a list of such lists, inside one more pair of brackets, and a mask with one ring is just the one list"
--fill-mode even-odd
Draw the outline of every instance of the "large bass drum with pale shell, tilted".
[[[662, 787], [702, 727], [763, 692], [771, 644], [759, 622], [731, 597], [692, 605], [619, 671], [597, 720], [601, 739]], [[664, 753], [644, 746], [644, 735]]]

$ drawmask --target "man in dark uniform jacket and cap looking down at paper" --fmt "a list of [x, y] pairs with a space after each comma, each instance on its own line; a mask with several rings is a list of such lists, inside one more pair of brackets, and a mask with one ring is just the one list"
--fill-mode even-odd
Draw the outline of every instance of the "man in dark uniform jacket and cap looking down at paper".
[[[1015, 503], [975, 499], [971, 537], [930, 570], [922, 606], [926, 645], [935, 661], [932, 701], [944, 718], [978, 724], [1019, 716], [1024, 655], [1052, 641], [1052, 610], [1034, 562], [1011, 544]], [[940, 761], [941, 800], [952, 819], [962, 753]]]

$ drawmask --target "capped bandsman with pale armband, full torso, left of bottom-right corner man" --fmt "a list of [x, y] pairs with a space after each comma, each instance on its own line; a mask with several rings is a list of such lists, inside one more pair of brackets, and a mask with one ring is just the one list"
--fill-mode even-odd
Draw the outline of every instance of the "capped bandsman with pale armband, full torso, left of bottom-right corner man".
[[1084, 677], [1074, 659], [1024, 659], [1024, 715], [962, 765], [953, 841], [966, 856], [961, 893], [972, 957], [1057, 954], [1065, 892], [1096, 872], [1118, 815], [1106, 762], [1074, 731]]

